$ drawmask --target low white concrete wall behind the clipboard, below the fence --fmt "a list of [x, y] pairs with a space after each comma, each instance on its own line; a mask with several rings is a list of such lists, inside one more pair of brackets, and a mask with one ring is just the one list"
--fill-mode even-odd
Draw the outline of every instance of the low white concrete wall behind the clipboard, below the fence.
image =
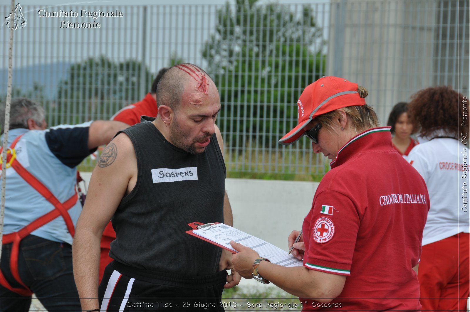
[[[80, 175], [88, 186], [91, 172]], [[302, 227], [317, 186], [316, 182], [227, 179], [234, 226], [287, 250], [287, 236]]]

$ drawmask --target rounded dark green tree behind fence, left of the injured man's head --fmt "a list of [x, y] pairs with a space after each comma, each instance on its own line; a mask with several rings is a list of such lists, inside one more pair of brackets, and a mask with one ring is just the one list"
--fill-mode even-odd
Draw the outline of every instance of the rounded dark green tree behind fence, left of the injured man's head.
[[134, 60], [113, 62], [100, 56], [74, 63], [57, 90], [60, 122], [108, 119], [125, 105], [139, 101], [142, 84], [147, 92], [153, 79], [148, 68]]

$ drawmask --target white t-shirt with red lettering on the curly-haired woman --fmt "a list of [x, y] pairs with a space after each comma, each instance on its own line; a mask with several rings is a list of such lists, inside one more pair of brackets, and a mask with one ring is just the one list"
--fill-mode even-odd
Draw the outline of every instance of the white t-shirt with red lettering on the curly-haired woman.
[[423, 246], [470, 232], [469, 150], [459, 140], [435, 138], [415, 146], [408, 161], [428, 187], [431, 208]]

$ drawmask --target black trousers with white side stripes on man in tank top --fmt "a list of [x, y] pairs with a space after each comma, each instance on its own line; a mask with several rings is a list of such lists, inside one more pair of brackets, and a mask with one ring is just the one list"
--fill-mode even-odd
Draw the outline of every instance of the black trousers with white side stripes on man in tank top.
[[155, 274], [113, 261], [98, 291], [101, 311], [224, 311], [226, 277], [225, 270], [197, 277]]

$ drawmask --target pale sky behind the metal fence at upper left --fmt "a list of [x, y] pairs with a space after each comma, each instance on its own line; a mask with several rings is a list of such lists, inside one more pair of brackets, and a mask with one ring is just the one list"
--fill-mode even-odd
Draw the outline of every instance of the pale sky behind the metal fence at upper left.
[[[235, 0], [228, 0], [230, 3], [234, 3]], [[10, 2], [10, 0], [4, 0], [4, 4], [7, 4]], [[96, 35], [98, 42], [102, 43], [102, 45], [107, 42], [107, 39], [110, 39], [111, 44], [113, 42], [121, 42], [120, 39], [115, 39], [112, 36], [113, 30], [115, 30], [118, 27], [113, 27], [114, 26], [114, 20], [113, 19], [105, 19], [101, 18], [99, 20], [93, 20], [96, 22], [101, 23], [102, 29], [100, 31], [78, 31], [78, 30], [71, 30], [71, 29], [59, 29], [59, 25], [62, 28], [62, 20], [68, 20], [70, 19], [71, 23], [75, 22], [84, 22], [83, 19], [77, 19], [77, 18], [60, 18], [60, 17], [47, 17], [47, 18], [42, 18], [39, 17], [38, 14], [35, 14], [39, 8], [46, 9], [47, 11], [56, 11], [58, 8], [55, 7], [62, 7], [62, 9], [67, 10], [67, 7], [69, 8], [85, 8], [85, 7], [92, 7], [94, 5], [99, 6], [99, 7], [106, 7], [106, 8], [112, 8], [113, 6], [116, 6], [116, 8], [121, 7], [121, 10], [125, 12], [125, 17], [126, 19], [120, 21], [122, 23], [120, 24], [125, 24], [129, 25], [123, 32], [123, 36], [125, 36], [126, 33], [133, 33], [132, 36], [129, 35], [126, 37], [127, 42], [132, 42], [131, 39], [136, 39], [138, 36], [141, 36], [142, 33], [144, 32], [138, 32], [137, 34], [133, 32], [133, 30], [136, 29], [134, 27], [134, 22], [133, 22], [133, 9], [130, 7], [136, 7], [136, 6], [143, 6], [143, 5], [148, 5], [152, 6], [152, 9], [155, 9], [158, 5], [162, 6], [160, 9], [155, 9], [153, 12], [155, 12], [157, 15], [160, 16], [159, 19], [154, 19], [154, 20], [149, 20], [149, 25], [151, 27], [149, 28], [149, 31], [156, 31], [156, 37], [158, 38], [155, 42], [152, 42], [150, 44], [155, 44], [155, 47], [149, 47], [152, 49], [154, 53], [153, 55], [155, 56], [155, 59], [151, 63], [151, 70], [155, 71], [161, 68], [162, 66], [165, 66], [165, 64], [168, 62], [170, 59], [170, 52], [178, 52], [178, 55], [181, 58], [184, 58], [185, 60], [188, 58], [188, 55], [193, 55], [194, 53], [190, 53], [189, 51], [199, 51], [201, 49], [201, 44], [204, 43], [207, 39], [208, 36], [210, 35], [210, 31], [207, 30], [207, 27], [215, 24], [215, 21], [212, 21], [215, 18], [215, 14], [213, 16], [209, 16], [205, 18], [204, 21], [198, 21], [197, 17], [195, 17], [192, 20], [185, 20], [184, 23], [182, 23], [179, 19], [178, 16], [174, 18], [174, 14], [171, 15], [171, 12], [174, 11], [174, 8], [169, 9], [170, 11], [170, 16], [172, 16], [172, 20], [165, 20], [165, 16], [161, 14], [161, 11], [166, 11], [164, 7], [167, 7], [169, 3], [171, 3], [170, 6], [175, 6], [179, 7], [181, 6], [183, 10], [186, 7], [194, 7], [195, 5], [208, 5], [212, 6], [212, 8], [215, 8], [216, 5], [221, 5], [225, 3], [226, 0], [15, 0], [15, 4], [20, 3], [21, 6], [23, 7], [23, 14], [25, 14], [27, 18], [27, 26], [26, 28], [28, 31], [26, 31], [26, 28], [24, 30], [17, 31], [16, 32], [16, 49], [21, 50], [23, 52], [25, 51], [33, 51], [36, 50], [37, 52], [32, 56], [24, 56], [24, 58], [20, 59], [20, 57], [16, 58], [16, 61], [18, 63], [14, 64], [16, 67], [17, 66], [25, 66], [25, 65], [30, 65], [32, 59], [34, 58], [34, 63], [41, 62], [41, 63], [51, 63], [51, 62], [58, 62], [58, 61], [67, 61], [67, 62], [76, 62], [78, 59], [83, 59], [87, 55], [95, 56], [95, 55], [109, 55], [110, 57], [115, 57], [116, 59], [119, 58], [118, 56], [123, 56], [126, 55], [128, 58], [135, 58], [135, 53], [139, 53], [137, 51], [133, 51], [131, 54], [129, 53], [121, 53], [123, 49], [129, 49], [129, 45], [124, 45], [120, 46], [118, 49], [113, 48], [112, 51], [111, 49], [108, 49], [108, 46], [106, 47], [101, 47], [100, 45], [89, 45], [88, 48], [84, 50], [84, 45], [81, 43], [85, 42], [86, 40], [90, 40], [90, 42], [94, 42], [95, 40], [90, 37], [80, 37], [77, 39], [78, 43], [75, 44], [74, 46], [71, 45], [71, 38], [75, 38], [74, 36], [82, 36], [82, 33], [86, 33], [86, 36], [91, 36]], [[264, 3], [272, 3], [272, 2], [278, 2], [286, 5], [290, 4], [314, 4], [314, 3], [328, 3], [329, 0], [259, 0], [259, 4], [264, 4]], [[132, 5], [130, 5], [132, 4]], [[7, 6], [8, 7], [8, 4]], [[124, 8], [122, 8], [124, 7]], [[5, 9], [5, 7], [3, 8]], [[193, 8], [195, 9], [195, 8]], [[178, 10], [178, 8], [177, 8]], [[188, 9], [191, 11], [190, 9]], [[196, 9], [195, 9], [196, 10]], [[130, 12], [129, 14], [127, 14]], [[159, 13], [160, 12], [160, 13]], [[192, 12], [192, 11], [191, 11]], [[212, 13], [215, 13], [212, 12]], [[324, 16], [321, 16], [319, 18], [327, 18], [328, 14], [323, 14]], [[135, 15], [137, 16], [137, 15]], [[163, 16], [163, 17], [162, 17]], [[168, 17], [169, 18], [169, 17]], [[87, 20], [86, 20], [87, 21]], [[93, 22], [92, 21], [92, 22]], [[163, 21], [163, 22], [162, 22]], [[321, 20], [319, 20], [321, 21]], [[164, 25], [161, 25], [161, 23], [164, 23]], [[321, 23], [325, 23], [324, 21], [321, 21]], [[1, 23], [0, 23], [1, 24]], [[155, 24], [155, 25], [154, 25]], [[173, 25], [174, 24], [174, 25]], [[188, 27], [188, 25], [192, 26], [197, 26], [196, 28], [201, 29], [201, 31], [198, 33], [198, 39], [195, 38], [189, 38], [188, 33], [191, 33], [190, 31], [186, 31], [182, 33], [180, 31], [181, 26], [180, 24], [186, 25], [184, 27]], [[5, 28], [5, 23], [1, 25], [2, 29], [0, 29], [0, 39], [2, 40], [7, 40], [8, 38], [8, 31], [4, 31], [3, 28]], [[117, 26], [117, 25], [116, 25]], [[170, 30], [169, 30], [170, 29]], [[325, 28], [326, 30], [327, 28]], [[3, 31], [2, 31], [3, 30]], [[60, 32], [59, 32], [60, 31]], [[179, 32], [178, 32], [179, 31]], [[66, 38], [63, 37], [64, 34], [67, 34]], [[71, 35], [72, 37], [70, 37]], [[106, 36], [105, 36], [106, 35]], [[99, 37], [102, 36], [102, 37]], [[121, 36], [121, 37], [123, 37]], [[137, 37], [136, 37], [137, 36]], [[170, 38], [171, 37], [171, 38]], [[204, 38], [203, 38], [204, 37]], [[32, 40], [32, 38], [38, 38], [38, 41], [36, 42], [35, 40]], [[85, 38], [85, 39], [84, 39]], [[59, 41], [57, 41], [59, 40]], [[85, 41], [84, 41], [85, 40]], [[0, 40], [1, 41], [1, 40]], [[109, 41], [109, 40], [108, 40]], [[193, 41], [197, 41], [194, 43]], [[57, 43], [60, 44], [57, 44]], [[186, 44], [183, 45], [181, 42], [193, 42], [192, 45]], [[159, 44], [158, 44], [159, 43]], [[162, 45], [164, 44], [164, 45]], [[198, 45], [196, 47], [196, 45]], [[34, 47], [33, 47], [34, 46]], [[63, 47], [61, 49], [57, 47]], [[140, 46], [139, 46], [140, 47]], [[166, 48], [166, 50], [172, 49], [172, 51], [166, 51], [162, 50]], [[68, 51], [67, 51], [68, 49]], [[158, 51], [155, 51], [155, 49], [158, 49]], [[8, 51], [6, 47], [3, 47], [3, 49], [0, 48], [0, 55], [2, 54], [3, 50], [3, 55], [8, 55]], [[54, 50], [54, 51], [53, 51]], [[136, 50], [136, 49], [134, 49]], [[23, 53], [25, 54], [25, 53]], [[85, 56], [83, 56], [86, 54]], [[82, 57], [83, 56], [83, 57]], [[191, 59], [193, 62], [200, 62], [200, 60], [196, 59]], [[20, 65], [21, 64], [21, 65]], [[0, 69], [6, 68], [7, 62], [6, 59], [4, 59], [3, 62], [0, 62]]]

